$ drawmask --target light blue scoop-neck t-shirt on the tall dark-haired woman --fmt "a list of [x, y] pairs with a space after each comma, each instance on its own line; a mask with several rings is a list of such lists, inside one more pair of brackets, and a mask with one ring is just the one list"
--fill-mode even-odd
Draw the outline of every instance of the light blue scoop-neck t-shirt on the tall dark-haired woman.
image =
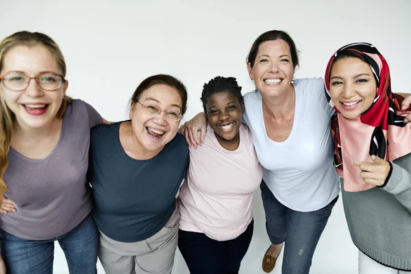
[[243, 119], [275, 198], [292, 210], [310, 212], [327, 206], [340, 191], [329, 129], [334, 110], [325, 98], [323, 79], [297, 79], [294, 88], [294, 124], [284, 142], [267, 136], [258, 90], [244, 95]]

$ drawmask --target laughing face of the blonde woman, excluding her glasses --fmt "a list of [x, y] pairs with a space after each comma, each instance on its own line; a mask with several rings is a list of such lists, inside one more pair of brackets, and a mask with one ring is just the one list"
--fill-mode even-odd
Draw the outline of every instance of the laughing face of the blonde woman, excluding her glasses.
[[[47, 47], [16, 46], [5, 53], [1, 74], [20, 71], [30, 77], [38, 73], [51, 72], [62, 74], [58, 62]], [[39, 88], [32, 79], [22, 91], [13, 91], [0, 84], [0, 93], [5, 104], [15, 114], [18, 125], [29, 128], [41, 128], [51, 125], [62, 104], [67, 82], [58, 90], [47, 91]]]

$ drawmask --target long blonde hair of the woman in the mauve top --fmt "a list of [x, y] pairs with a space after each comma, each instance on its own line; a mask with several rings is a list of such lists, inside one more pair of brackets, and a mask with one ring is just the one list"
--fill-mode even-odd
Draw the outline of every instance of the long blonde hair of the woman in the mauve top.
[[[4, 56], [10, 49], [17, 46], [34, 47], [41, 45], [47, 47], [51, 54], [54, 56], [58, 66], [62, 71], [62, 75], [66, 76], [66, 62], [64, 56], [60, 51], [58, 45], [45, 34], [39, 32], [16, 32], [0, 42], [0, 73], [3, 69]], [[57, 117], [62, 119], [66, 112], [67, 105], [71, 102], [71, 98], [64, 96], [62, 105], [58, 110]], [[3, 203], [3, 192], [8, 192], [8, 188], [4, 182], [5, 169], [8, 166], [8, 151], [10, 149], [10, 141], [12, 140], [13, 123], [15, 116], [5, 104], [5, 101], [1, 100], [0, 109], [0, 205]]]

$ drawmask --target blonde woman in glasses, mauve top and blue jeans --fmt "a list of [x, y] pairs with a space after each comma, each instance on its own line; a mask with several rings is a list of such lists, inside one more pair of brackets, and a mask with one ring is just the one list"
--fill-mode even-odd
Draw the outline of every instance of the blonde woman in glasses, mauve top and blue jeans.
[[0, 234], [11, 274], [53, 273], [55, 240], [70, 273], [97, 273], [86, 172], [90, 129], [103, 119], [66, 96], [65, 74], [64, 57], [45, 34], [18, 32], [0, 42], [0, 188], [9, 190]]

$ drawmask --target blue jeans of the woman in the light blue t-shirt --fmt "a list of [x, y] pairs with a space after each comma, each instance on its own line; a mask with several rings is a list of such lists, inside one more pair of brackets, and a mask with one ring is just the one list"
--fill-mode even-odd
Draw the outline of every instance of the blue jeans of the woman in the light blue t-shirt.
[[320, 210], [299, 212], [275, 199], [264, 181], [260, 188], [267, 234], [274, 245], [285, 242], [282, 273], [308, 274], [316, 245], [338, 196]]

